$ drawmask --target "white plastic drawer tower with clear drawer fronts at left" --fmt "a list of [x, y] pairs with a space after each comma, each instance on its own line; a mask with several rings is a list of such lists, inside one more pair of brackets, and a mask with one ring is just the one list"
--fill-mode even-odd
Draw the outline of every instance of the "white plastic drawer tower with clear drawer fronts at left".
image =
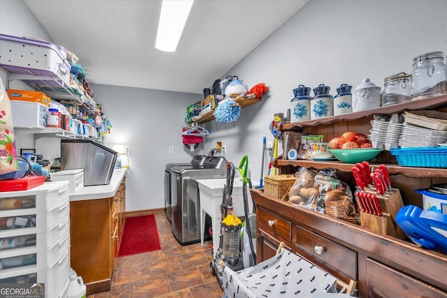
[[54, 280], [53, 297], [63, 292], [66, 280], [59, 287], [63, 277], [56, 273], [48, 278], [47, 274], [66, 271], [61, 265], [67, 262], [70, 268], [66, 260], [70, 251], [68, 194], [68, 181], [0, 193], [0, 281], [45, 280], [56, 285]]

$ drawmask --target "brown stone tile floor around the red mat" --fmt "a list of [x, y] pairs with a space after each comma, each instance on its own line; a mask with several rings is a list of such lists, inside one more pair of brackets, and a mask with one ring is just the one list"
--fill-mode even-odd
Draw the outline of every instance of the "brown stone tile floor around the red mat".
[[210, 271], [212, 241], [182, 246], [173, 236], [166, 214], [155, 214], [161, 251], [119, 257], [115, 260], [112, 288], [88, 298], [214, 298], [222, 297]]

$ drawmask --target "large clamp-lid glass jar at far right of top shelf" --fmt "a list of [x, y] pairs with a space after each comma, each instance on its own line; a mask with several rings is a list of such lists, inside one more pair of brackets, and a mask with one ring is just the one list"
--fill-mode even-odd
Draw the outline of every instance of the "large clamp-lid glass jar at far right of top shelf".
[[447, 67], [443, 52], [429, 52], [413, 59], [411, 99], [447, 94]]

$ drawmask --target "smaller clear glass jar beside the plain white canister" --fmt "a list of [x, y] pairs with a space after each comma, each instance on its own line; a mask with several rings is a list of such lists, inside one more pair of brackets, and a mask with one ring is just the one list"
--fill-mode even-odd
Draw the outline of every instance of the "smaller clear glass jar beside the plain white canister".
[[382, 106], [395, 105], [411, 100], [410, 75], [397, 73], [385, 78], [385, 88], [382, 93]]

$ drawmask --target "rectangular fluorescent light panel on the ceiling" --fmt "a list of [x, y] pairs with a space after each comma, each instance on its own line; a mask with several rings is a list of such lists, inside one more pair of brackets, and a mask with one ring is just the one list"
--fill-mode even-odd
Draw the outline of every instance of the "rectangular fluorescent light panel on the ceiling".
[[156, 33], [155, 47], [164, 52], [175, 52], [193, 0], [163, 0]]

